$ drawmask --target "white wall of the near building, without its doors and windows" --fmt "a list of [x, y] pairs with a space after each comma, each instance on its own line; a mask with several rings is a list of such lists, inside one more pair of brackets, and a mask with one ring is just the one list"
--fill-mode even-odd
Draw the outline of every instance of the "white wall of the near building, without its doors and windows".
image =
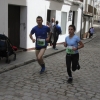
[[[70, 10], [77, 11], [77, 31], [80, 29], [80, 9], [78, 6], [69, 6], [63, 3], [58, 3], [54, 1], [45, 1], [45, 0], [0, 0], [0, 33], [5, 32], [8, 36], [8, 4], [20, 5], [21, 6], [21, 23], [25, 23], [26, 28], [23, 29], [23, 25], [20, 25], [20, 46], [22, 48], [32, 48], [35, 47], [35, 44], [29, 38], [29, 33], [31, 29], [37, 24], [36, 17], [43, 17], [43, 24], [46, 24], [47, 19], [47, 9], [56, 10], [56, 19], [61, 25], [61, 12], [67, 13], [67, 24], [66, 24], [66, 33], [59, 37], [59, 42], [64, 42], [65, 37], [68, 35], [68, 26], [72, 24], [71, 21], [68, 21], [68, 12]], [[55, 6], [56, 5], [56, 6]], [[3, 10], [2, 10], [3, 9]], [[26, 14], [27, 13], [27, 14]], [[35, 37], [35, 36], [33, 36]]]

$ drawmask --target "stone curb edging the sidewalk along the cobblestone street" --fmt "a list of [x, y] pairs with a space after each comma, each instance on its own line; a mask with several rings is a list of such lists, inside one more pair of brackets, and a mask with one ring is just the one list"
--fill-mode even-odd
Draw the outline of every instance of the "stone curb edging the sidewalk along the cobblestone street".
[[[95, 34], [95, 36], [94, 36], [93, 38], [88, 39], [88, 40], [86, 40], [86, 41], [83, 41], [83, 43], [84, 43], [84, 44], [89, 43], [89, 42], [92, 41], [94, 38], [96, 38], [96, 34]], [[57, 52], [53, 52], [53, 53], [44, 55], [44, 58], [47, 58], [47, 57], [49, 57], [49, 56], [52, 56], [52, 55], [54, 55], [54, 54], [57, 54], [57, 53], [60, 53], [60, 52], [63, 52], [63, 51], [65, 51], [65, 49], [62, 49], [62, 50], [59, 50], [59, 51], [57, 51]], [[27, 65], [27, 64], [32, 63], [32, 62], [35, 62], [35, 61], [37, 61], [37, 60], [36, 60], [36, 59], [29, 59], [28, 61], [25, 61], [25, 62], [16, 64], [16, 65], [12, 65], [11, 67], [9, 67], [9, 68], [7, 67], [7, 69], [4, 69], [4, 70], [0, 71], [0, 74], [2, 74], [2, 73], [4, 73], [4, 72], [7, 72], [7, 71], [9, 71], [9, 70], [13, 70], [13, 69], [15, 69], [15, 68], [18, 68], [18, 67]]]

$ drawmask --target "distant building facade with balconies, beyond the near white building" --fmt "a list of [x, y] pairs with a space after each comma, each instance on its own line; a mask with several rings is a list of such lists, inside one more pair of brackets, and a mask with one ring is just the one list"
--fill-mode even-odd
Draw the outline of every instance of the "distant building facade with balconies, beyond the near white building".
[[94, 16], [96, 16], [97, 9], [94, 7], [96, 0], [84, 0], [83, 1], [83, 25], [82, 33], [83, 39], [89, 37], [89, 28], [93, 27]]

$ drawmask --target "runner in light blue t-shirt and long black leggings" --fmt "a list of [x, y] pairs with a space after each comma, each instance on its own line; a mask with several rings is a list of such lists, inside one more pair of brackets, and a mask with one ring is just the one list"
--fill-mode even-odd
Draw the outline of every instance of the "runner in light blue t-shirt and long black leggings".
[[69, 36], [65, 38], [64, 46], [66, 47], [66, 66], [68, 73], [68, 83], [73, 81], [72, 72], [71, 72], [71, 63], [72, 63], [72, 71], [76, 69], [80, 69], [79, 67], [79, 52], [78, 49], [84, 47], [84, 44], [81, 42], [80, 38], [75, 35], [75, 26], [69, 26]]

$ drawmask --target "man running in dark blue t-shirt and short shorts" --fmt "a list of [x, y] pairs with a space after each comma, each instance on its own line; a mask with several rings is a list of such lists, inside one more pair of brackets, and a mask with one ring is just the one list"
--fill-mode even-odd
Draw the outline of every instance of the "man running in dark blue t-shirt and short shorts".
[[[30, 39], [35, 42], [35, 48], [36, 48], [36, 57], [38, 60], [39, 65], [41, 66], [40, 74], [42, 74], [45, 71], [45, 63], [43, 61], [43, 54], [45, 53], [45, 50], [47, 48], [47, 44], [50, 39], [50, 28], [42, 25], [43, 19], [41, 16], [38, 16], [36, 18], [37, 26], [33, 27], [30, 32]], [[32, 35], [35, 33], [36, 40], [32, 37]], [[47, 37], [47, 34], [49, 35]]]

